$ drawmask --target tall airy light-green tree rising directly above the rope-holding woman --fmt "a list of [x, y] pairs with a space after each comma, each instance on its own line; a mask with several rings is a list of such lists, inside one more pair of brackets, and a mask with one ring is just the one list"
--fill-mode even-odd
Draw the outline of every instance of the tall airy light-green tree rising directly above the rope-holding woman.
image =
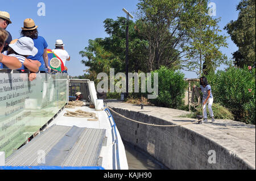
[[189, 36], [189, 41], [184, 47], [187, 52], [184, 68], [195, 71], [200, 77], [214, 71], [221, 64], [228, 64], [227, 57], [220, 48], [227, 47], [226, 36], [219, 35], [219, 19], [214, 19], [208, 14], [208, 1], [196, 0], [189, 5], [187, 14], [184, 14], [183, 28]]

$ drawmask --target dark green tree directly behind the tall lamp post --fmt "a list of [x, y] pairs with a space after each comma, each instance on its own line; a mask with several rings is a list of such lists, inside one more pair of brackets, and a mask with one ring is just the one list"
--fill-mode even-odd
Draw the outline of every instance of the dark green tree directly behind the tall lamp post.
[[[126, 18], [118, 17], [117, 20], [106, 19], [105, 31], [109, 37], [104, 39], [102, 45], [115, 56], [118, 56], [125, 64], [126, 50]], [[139, 33], [137, 23], [129, 20], [129, 70], [147, 71], [145, 58], [147, 57], [148, 42]], [[125, 65], [122, 66], [125, 71]]]

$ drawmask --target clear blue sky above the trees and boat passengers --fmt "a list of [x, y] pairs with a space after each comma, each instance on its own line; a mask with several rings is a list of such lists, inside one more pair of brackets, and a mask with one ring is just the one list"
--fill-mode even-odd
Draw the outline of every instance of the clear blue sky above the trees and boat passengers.
[[[43, 2], [46, 5], [46, 15], [39, 16], [38, 3]], [[56, 39], [62, 39], [65, 44], [65, 49], [71, 56], [71, 61], [67, 61], [69, 75], [83, 75], [83, 70], [86, 67], [81, 64], [83, 59], [79, 51], [88, 45], [89, 39], [97, 37], [106, 37], [104, 29], [104, 20], [106, 18], [116, 19], [117, 16], [125, 16], [122, 8], [130, 12], [137, 10], [138, 0], [74, 0], [74, 1], [60, 1], [60, 0], [6, 0], [1, 1], [0, 11], [7, 11], [10, 13], [11, 21], [6, 30], [8, 30], [13, 39], [20, 37], [21, 27], [26, 18], [32, 18], [38, 26], [39, 36], [43, 36], [49, 49], [55, 48]], [[210, 2], [216, 3], [216, 16], [221, 17], [219, 26], [221, 29], [230, 22], [236, 20], [238, 12], [236, 6], [240, 0], [212, 0]], [[225, 30], [222, 34], [228, 35]], [[228, 39], [228, 48], [222, 49], [222, 52], [229, 58], [232, 57], [233, 52], [238, 48]], [[220, 69], [224, 69], [221, 66]], [[195, 73], [184, 71], [185, 77], [195, 78]]]

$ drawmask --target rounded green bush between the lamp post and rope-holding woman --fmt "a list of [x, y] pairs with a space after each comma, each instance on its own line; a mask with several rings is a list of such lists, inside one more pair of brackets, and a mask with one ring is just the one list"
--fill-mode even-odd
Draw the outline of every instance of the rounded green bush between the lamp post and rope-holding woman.
[[[158, 96], [156, 99], [150, 99], [155, 106], [178, 108], [183, 106], [183, 98], [188, 83], [184, 81], [184, 74], [180, 71], [174, 71], [164, 66], [152, 71], [158, 73]], [[152, 78], [152, 81], [154, 79]]]

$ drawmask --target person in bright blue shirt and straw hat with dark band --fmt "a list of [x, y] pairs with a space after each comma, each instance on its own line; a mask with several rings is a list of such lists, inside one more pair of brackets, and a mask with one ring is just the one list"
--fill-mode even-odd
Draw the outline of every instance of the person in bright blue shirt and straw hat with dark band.
[[20, 35], [30, 37], [34, 41], [35, 47], [38, 49], [38, 53], [35, 56], [29, 56], [28, 58], [31, 60], [40, 61], [40, 68], [48, 68], [48, 70], [50, 70], [51, 68], [49, 68], [48, 65], [47, 55], [48, 44], [42, 36], [38, 36], [37, 28], [38, 26], [35, 25], [34, 20], [32, 20], [31, 18], [27, 18], [24, 20], [24, 26], [22, 27]]

